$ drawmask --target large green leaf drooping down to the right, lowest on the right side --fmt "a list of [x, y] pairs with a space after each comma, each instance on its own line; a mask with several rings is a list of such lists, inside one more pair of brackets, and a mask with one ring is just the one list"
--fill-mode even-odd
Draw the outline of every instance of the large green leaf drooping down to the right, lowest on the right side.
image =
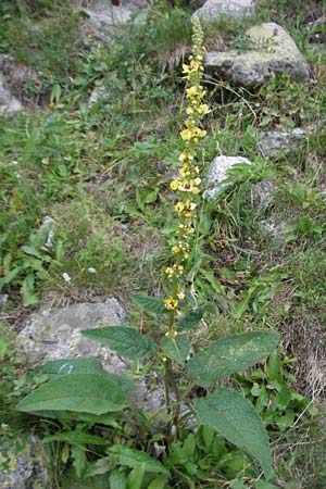
[[253, 405], [241, 394], [225, 387], [197, 399], [198, 419], [217, 429], [228, 441], [260, 461], [266, 478], [272, 473], [268, 436]]

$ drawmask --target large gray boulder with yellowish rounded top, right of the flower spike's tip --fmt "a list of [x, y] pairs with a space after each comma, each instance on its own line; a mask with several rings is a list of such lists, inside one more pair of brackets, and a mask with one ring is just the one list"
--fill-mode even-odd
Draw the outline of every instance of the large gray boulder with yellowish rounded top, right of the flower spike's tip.
[[306, 61], [291, 36], [279, 25], [271, 22], [251, 27], [246, 39], [250, 47], [246, 52], [208, 52], [206, 70], [234, 85], [249, 88], [263, 84], [272, 74], [284, 72], [297, 80], [310, 78]]

